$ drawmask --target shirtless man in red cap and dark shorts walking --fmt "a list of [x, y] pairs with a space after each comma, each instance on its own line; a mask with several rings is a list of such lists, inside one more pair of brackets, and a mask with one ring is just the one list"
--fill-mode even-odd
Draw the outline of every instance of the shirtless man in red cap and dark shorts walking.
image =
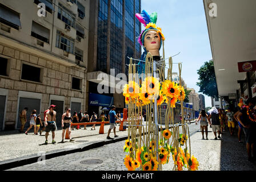
[[45, 115], [45, 126], [46, 126], [46, 129], [45, 129], [45, 144], [48, 143], [48, 135], [49, 135], [49, 132], [51, 131], [52, 133], [52, 138], [53, 138], [53, 144], [55, 144], [55, 140], [54, 140], [54, 137], [55, 137], [55, 121], [56, 121], [56, 111], [54, 110], [54, 107], [56, 107], [55, 105], [51, 105], [50, 106], [50, 110], [46, 112], [46, 115]]

